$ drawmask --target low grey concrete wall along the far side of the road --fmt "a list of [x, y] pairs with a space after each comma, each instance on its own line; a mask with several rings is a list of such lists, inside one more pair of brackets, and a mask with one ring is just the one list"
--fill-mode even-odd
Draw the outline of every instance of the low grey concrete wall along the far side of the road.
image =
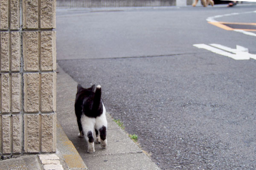
[[175, 6], [176, 0], [57, 0], [58, 7]]

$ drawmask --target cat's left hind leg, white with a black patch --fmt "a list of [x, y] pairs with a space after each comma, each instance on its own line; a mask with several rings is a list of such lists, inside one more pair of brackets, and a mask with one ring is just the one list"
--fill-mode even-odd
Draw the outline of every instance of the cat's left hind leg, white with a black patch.
[[95, 118], [82, 116], [81, 124], [84, 131], [84, 137], [88, 145], [87, 152], [94, 153], [95, 149], [94, 149], [93, 131], [94, 131]]

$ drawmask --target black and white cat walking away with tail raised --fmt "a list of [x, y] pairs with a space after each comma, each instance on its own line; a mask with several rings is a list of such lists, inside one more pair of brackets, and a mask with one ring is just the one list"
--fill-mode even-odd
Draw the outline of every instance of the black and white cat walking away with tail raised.
[[83, 88], [77, 85], [75, 111], [79, 127], [79, 137], [84, 137], [88, 144], [88, 153], [94, 153], [93, 132], [96, 133], [96, 142], [102, 148], [107, 147], [107, 126], [106, 109], [101, 99], [101, 86], [95, 85], [90, 88]]

